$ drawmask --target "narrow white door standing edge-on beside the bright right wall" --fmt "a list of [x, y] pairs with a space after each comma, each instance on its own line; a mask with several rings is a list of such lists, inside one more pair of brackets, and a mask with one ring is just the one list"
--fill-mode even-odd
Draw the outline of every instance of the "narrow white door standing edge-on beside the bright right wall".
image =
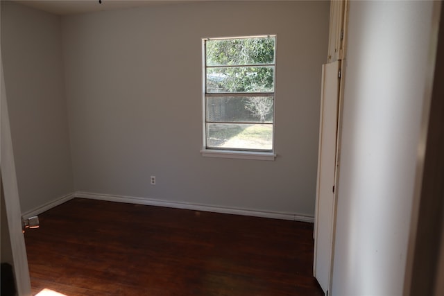
[[322, 67], [321, 122], [319, 125], [318, 182], [314, 229], [314, 277], [324, 293], [330, 286], [334, 222], [334, 175], [338, 126], [339, 69], [341, 61]]

